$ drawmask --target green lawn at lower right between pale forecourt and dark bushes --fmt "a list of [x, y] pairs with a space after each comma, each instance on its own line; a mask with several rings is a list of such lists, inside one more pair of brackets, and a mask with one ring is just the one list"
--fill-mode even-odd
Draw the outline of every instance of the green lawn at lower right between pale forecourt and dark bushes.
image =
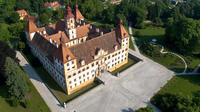
[[174, 76], [157, 94], [181, 94], [192, 97], [200, 92], [200, 76]]

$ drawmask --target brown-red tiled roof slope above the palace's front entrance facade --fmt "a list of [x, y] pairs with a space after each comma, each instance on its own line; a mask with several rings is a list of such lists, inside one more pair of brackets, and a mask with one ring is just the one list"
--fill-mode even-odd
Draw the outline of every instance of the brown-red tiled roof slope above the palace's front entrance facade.
[[117, 45], [120, 48], [120, 44], [117, 41], [115, 31], [104, 34], [103, 36], [99, 36], [88, 40], [84, 43], [71, 46], [69, 50], [77, 59], [77, 66], [81, 66], [81, 61], [84, 60], [86, 64], [94, 61], [94, 56], [97, 48], [103, 49], [104, 51], [108, 51], [108, 53], [114, 52], [114, 46]]

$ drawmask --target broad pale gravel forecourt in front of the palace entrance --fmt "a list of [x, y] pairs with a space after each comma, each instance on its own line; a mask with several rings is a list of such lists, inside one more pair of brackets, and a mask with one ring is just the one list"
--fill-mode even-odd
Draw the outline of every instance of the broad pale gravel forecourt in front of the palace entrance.
[[71, 112], [132, 112], [149, 104], [174, 73], [141, 56], [143, 61], [121, 72], [118, 77], [105, 72], [104, 84], [68, 102]]

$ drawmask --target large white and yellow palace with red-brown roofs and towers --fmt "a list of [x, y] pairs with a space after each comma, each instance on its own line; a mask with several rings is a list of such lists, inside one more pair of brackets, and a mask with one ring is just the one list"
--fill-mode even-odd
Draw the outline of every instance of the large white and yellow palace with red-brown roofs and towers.
[[38, 28], [29, 21], [26, 38], [33, 55], [67, 94], [128, 62], [129, 34], [122, 20], [106, 31], [84, 22], [78, 5], [74, 14], [68, 6], [65, 19], [53, 25]]

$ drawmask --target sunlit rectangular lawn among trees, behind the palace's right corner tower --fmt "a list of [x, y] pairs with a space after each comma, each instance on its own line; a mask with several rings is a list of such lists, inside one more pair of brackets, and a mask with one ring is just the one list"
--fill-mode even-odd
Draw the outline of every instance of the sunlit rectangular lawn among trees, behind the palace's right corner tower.
[[[136, 35], [139, 32], [139, 35]], [[165, 35], [165, 28], [149, 26], [145, 29], [133, 29], [136, 42], [151, 41], [152, 39], [161, 40]]]

